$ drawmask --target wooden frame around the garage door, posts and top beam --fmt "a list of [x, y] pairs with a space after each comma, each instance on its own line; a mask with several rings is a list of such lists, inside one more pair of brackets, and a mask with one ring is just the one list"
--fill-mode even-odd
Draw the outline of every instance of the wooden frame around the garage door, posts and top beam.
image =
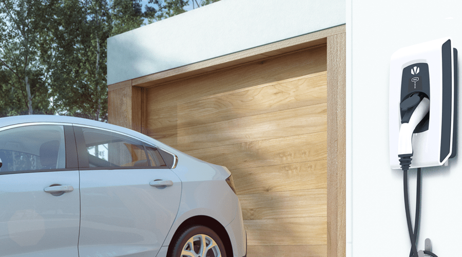
[[327, 45], [327, 255], [346, 254], [346, 27], [320, 30], [226, 56], [108, 85], [109, 123], [143, 133], [146, 90], [313, 46]]

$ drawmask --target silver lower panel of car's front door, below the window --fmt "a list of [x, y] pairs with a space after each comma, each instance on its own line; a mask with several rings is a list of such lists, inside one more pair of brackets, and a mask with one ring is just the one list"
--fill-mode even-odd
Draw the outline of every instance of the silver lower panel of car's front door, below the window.
[[[54, 184], [73, 190], [44, 192]], [[79, 198], [79, 171], [0, 175], [0, 256], [78, 257]]]

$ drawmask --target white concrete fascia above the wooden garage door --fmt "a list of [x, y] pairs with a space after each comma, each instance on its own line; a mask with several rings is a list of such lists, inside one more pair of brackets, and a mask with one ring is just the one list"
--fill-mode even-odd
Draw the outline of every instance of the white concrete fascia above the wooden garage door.
[[222, 0], [109, 38], [107, 83], [342, 24], [344, 0]]

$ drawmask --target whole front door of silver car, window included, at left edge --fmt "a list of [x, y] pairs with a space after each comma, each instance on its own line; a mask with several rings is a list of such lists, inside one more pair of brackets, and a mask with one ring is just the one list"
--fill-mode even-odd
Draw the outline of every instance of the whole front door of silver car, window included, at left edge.
[[80, 194], [71, 125], [0, 128], [0, 256], [78, 257]]

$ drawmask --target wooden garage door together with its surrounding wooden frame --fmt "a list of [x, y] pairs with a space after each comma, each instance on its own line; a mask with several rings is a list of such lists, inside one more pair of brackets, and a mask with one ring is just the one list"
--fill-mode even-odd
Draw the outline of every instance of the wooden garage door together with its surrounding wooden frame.
[[337, 26], [110, 84], [109, 123], [227, 167], [247, 256], [343, 256], [344, 87]]

